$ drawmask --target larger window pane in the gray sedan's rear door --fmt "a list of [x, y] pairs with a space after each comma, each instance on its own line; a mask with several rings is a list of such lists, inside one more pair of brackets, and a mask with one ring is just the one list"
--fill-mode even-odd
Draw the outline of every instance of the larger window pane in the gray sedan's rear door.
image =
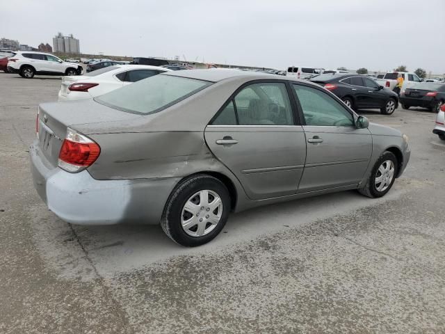
[[286, 85], [252, 84], [234, 98], [239, 125], [293, 125]]

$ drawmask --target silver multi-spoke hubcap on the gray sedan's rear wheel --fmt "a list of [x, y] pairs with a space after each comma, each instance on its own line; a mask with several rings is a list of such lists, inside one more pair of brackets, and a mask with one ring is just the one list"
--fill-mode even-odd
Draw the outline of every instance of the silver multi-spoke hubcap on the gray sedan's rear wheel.
[[188, 235], [202, 237], [216, 228], [222, 214], [223, 201], [215, 191], [198, 191], [182, 209], [181, 226]]

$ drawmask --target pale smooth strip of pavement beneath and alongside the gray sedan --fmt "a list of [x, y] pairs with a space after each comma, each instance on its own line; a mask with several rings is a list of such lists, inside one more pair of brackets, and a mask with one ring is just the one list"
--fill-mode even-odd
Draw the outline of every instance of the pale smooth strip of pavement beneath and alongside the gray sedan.
[[[384, 201], [397, 198], [400, 193], [393, 190]], [[159, 225], [72, 225], [72, 228], [97, 271], [103, 276], [113, 276], [173, 256], [218, 253], [264, 234], [285, 232], [336, 214], [357, 211], [381, 200], [370, 200], [357, 191], [343, 191], [250, 209], [232, 214], [216, 239], [195, 248], [175, 244]]]

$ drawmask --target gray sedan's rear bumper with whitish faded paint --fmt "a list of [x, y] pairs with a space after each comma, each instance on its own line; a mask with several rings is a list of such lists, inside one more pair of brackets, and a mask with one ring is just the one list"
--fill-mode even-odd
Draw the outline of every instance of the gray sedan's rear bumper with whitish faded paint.
[[29, 150], [33, 183], [48, 208], [80, 225], [157, 224], [179, 178], [95, 180], [88, 170], [68, 173], [51, 166], [38, 141]]

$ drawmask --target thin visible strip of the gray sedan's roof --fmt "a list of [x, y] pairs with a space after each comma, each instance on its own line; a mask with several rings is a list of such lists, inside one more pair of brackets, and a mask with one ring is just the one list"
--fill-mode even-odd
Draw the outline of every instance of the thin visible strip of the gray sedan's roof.
[[250, 80], [255, 79], [280, 79], [280, 80], [292, 80], [302, 81], [294, 78], [286, 78], [282, 75], [270, 74], [264, 72], [250, 72], [241, 70], [232, 70], [228, 68], [209, 68], [202, 70], [186, 70], [186, 71], [172, 71], [171, 73], [165, 73], [163, 75], [173, 75], [175, 77], [184, 77], [190, 79], [198, 79], [204, 81], [218, 82], [229, 78], [248, 78]]

